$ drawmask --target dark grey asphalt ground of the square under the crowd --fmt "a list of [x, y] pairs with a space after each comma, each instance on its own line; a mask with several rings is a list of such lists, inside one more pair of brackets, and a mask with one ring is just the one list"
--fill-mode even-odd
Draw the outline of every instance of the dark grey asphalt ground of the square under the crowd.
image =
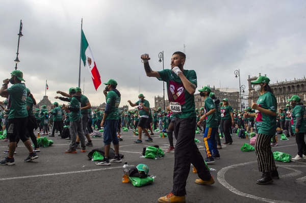
[[[16, 149], [15, 165], [0, 166], [0, 202], [157, 202], [160, 196], [172, 189], [174, 153], [165, 153], [158, 160], [140, 158], [144, 147], [158, 144], [163, 150], [168, 148], [168, 139], [153, 136], [154, 142], [133, 143], [137, 139], [132, 131], [123, 132], [120, 141], [120, 153], [124, 155], [122, 163], [111, 166], [97, 166], [89, 161], [87, 154], [91, 149], [103, 147], [102, 138], [93, 138], [94, 147], [87, 147], [86, 153], [65, 154], [67, 140], [52, 137], [52, 147], [41, 148], [39, 159], [23, 162], [28, 156], [27, 149], [19, 144]], [[201, 140], [202, 135], [196, 134]], [[258, 185], [261, 177], [258, 171], [256, 154], [242, 152], [243, 143], [249, 139], [239, 139], [233, 135], [234, 142], [220, 150], [221, 158], [209, 165], [215, 179], [212, 186], [194, 183], [197, 174], [192, 168], [187, 180], [186, 202], [306, 202], [306, 161], [276, 162], [281, 179], [271, 185]], [[278, 138], [279, 139], [279, 138]], [[144, 140], [144, 138], [143, 138]], [[174, 139], [175, 141], [175, 139]], [[224, 140], [221, 140], [224, 141]], [[295, 156], [297, 146], [294, 137], [288, 141], [278, 140], [279, 151]], [[0, 141], [0, 150], [7, 150], [8, 142]], [[203, 142], [197, 146], [205, 156]], [[1, 158], [7, 155], [1, 153]], [[141, 188], [131, 183], [123, 184], [122, 166], [147, 164], [149, 174], [156, 176], [154, 184]]]

